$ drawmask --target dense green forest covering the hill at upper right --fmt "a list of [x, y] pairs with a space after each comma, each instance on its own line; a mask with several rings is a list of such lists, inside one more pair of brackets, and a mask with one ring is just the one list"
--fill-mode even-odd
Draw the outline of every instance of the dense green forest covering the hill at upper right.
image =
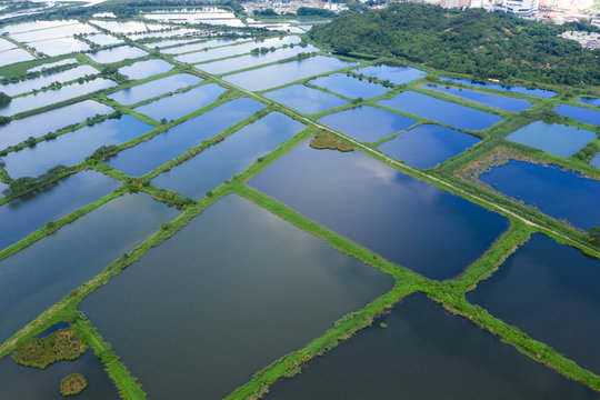
[[482, 9], [397, 3], [341, 16], [309, 34], [339, 53], [403, 57], [477, 78], [600, 84], [600, 49], [559, 37], [566, 29]]

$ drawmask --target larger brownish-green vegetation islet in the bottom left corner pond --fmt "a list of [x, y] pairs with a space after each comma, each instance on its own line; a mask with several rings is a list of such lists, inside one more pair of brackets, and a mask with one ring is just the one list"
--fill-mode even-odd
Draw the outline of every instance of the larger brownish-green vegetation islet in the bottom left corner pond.
[[88, 350], [72, 329], [61, 329], [46, 338], [31, 339], [14, 351], [14, 362], [46, 369], [48, 366], [62, 360], [77, 360]]

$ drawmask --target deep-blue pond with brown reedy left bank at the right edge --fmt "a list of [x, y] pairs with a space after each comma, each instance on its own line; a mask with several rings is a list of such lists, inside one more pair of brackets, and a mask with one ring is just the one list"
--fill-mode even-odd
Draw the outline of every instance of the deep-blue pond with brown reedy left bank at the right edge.
[[600, 227], [600, 182], [560, 167], [511, 160], [482, 173], [482, 182], [578, 228]]

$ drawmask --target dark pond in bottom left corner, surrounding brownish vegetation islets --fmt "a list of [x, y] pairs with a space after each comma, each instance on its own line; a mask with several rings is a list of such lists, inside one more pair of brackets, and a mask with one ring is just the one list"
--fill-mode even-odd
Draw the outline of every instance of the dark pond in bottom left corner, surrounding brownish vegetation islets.
[[81, 373], [88, 381], [86, 390], [77, 396], [78, 400], [120, 399], [117, 388], [92, 349], [88, 349], [74, 361], [60, 361], [44, 370], [19, 366], [10, 356], [4, 357], [0, 360], [2, 397], [20, 400], [63, 400], [60, 381], [71, 373]]

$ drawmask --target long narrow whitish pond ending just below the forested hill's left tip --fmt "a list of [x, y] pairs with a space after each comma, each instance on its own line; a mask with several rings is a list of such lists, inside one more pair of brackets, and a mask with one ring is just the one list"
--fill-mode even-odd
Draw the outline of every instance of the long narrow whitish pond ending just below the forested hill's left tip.
[[319, 51], [312, 44], [307, 47], [294, 46], [293, 48], [278, 49], [276, 51], [269, 51], [267, 53], [240, 56], [231, 59], [224, 59], [220, 61], [207, 62], [196, 68], [207, 71], [209, 73], [221, 74], [231, 71], [237, 71], [250, 67], [257, 67], [260, 64], [284, 60], [296, 57], [300, 53], [308, 53]]

